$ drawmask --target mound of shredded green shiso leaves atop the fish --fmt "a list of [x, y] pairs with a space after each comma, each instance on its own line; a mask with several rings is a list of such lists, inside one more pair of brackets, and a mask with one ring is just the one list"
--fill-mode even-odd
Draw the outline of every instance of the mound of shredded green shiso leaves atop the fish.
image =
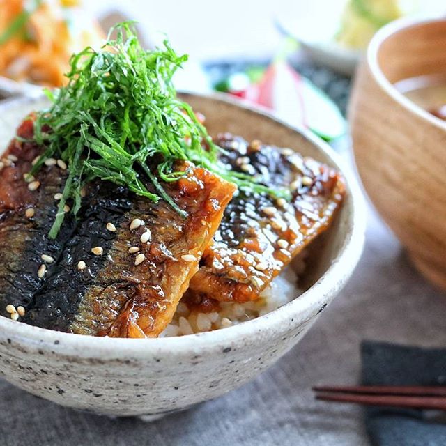
[[[112, 31], [116, 31], [114, 39]], [[82, 187], [96, 178], [128, 187], [155, 203], [164, 199], [187, 216], [160, 184], [160, 180], [175, 181], [185, 175], [173, 170], [176, 160], [189, 160], [238, 187], [289, 197], [288, 191], [272, 190], [218, 160], [222, 149], [213, 143], [190, 105], [176, 97], [171, 82], [187, 55], [178, 56], [167, 40], [162, 49], [144, 50], [131, 22], [118, 24], [112, 31], [100, 51], [87, 47], [72, 56], [68, 84], [54, 93], [47, 91], [52, 105], [36, 116], [34, 140], [45, 151], [31, 174], [49, 157], [68, 165], [49, 237], [59, 233], [67, 201], [72, 201], [72, 213], [77, 214]], [[208, 150], [203, 149], [203, 142]], [[147, 190], [147, 179], [157, 193]]]

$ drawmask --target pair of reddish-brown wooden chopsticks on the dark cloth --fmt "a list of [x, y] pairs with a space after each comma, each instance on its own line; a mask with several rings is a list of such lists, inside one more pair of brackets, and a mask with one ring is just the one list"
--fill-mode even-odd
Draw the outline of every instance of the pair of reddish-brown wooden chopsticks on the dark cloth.
[[318, 386], [314, 390], [321, 401], [446, 410], [445, 387]]

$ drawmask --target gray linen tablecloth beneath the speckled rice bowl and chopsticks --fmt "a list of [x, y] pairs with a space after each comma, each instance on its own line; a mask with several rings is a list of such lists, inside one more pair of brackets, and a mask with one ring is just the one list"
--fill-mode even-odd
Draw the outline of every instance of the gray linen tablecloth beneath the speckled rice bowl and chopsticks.
[[353, 279], [300, 344], [252, 383], [157, 422], [112, 420], [0, 380], [0, 445], [367, 445], [362, 409], [314, 401], [316, 383], [356, 383], [362, 339], [446, 345], [446, 295], [418, 275], [369, 210]]

